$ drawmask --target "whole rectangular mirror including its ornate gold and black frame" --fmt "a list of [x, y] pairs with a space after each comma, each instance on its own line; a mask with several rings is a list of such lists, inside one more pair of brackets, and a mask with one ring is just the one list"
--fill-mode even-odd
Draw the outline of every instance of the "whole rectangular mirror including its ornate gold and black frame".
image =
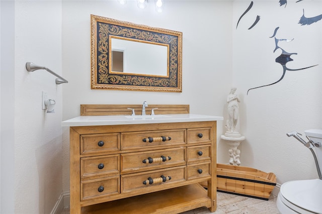
[[182, 33], [91, 15], [92, 89], [182, 92]]

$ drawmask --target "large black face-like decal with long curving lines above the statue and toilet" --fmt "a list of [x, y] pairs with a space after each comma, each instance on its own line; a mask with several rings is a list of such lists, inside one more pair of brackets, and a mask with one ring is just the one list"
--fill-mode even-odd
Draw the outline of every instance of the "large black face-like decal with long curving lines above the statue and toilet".
[[[276, 51], [276, 50], [278, 50], [278, 49], [281, 49], [281, 50], [282, 50], [282, 54], [281, 54], [279, 57], [277, 57], [277, 58], [275, 59], [275, 62], [277, 62], [277, 63], [281, 64], [281, 65], [282, 65], [282, 67], [283, 67], [283, 74], [282, 74], [282, 77], [281, 77], [279, 80], [277, 80], [276, 82], [274, 82], [274, 83], [271, 83], [271, 84], [268, 84], [268, 85], [263, 85], [263, 86], [258, 86], [258, 87], [255, 87], [255, 88], [251, 88], [251, 89], [249, 89], [249, 90], [247, 91], [247, 94], [248, 94], [248, 92], [249, 92], [250, 90], [252, 90], [252, 89], [257, 89], [257, 88], [261, 88], [261, 87], [265, 87], [265, 86], [270, 86], [270, 85], [274, 85], [274, 84], [276, 84], [276, 83], [280, 82], [280, 81], [284, 78], [284, 75], [285, 75], [286, 71], [299, 71], [299, 70], [303, 70], [303, 69], [307, 69], [307, 68], [311, 68], [311, 67], [317, 66], [317, 65], [313, 65], [313, 66], [309, 66], [309, 67], [306, 67], [306, 68], [300, 68], [300, 69], [290, 69], [290, 68], [287, 68], [287, 67], [286, 67], [286, 63], [288, 63], [288, 62], [290, 62], [290, 61], [293, 61], [293, 59], [291, 58], [291, 56], [292, 56], [293, 54], [297, 54], [297, 53], [288, 53], [288, 52], [286, 52], [284, 49], [282, 49], [281, 47], [279, 47], [279, 45], [278, 45], [278, 43], [279, 43], [279, 42], [281, 42], [281, 41], [291, 42], [291, 41], [293, 41], [293, 39], [292, 39], [292, 40], [287, 40], [287, 39], [276, 39], [275, 35], [276, 35], [276, 33], [277, 33], [277, 30], [278, 30], [278, 29], [279, 29], [279, 27], [277, 27], [277, 28], [275, 29], [274, 34], [273, 34], [273, 36], [272, 36], [272, 37], [274, 37], [274, 39], [275, 39], [275, 49], [274, 49], [274, 51], [273, 51], [273, 52], [275, 52], [275, 51]], [[270, 37], [270, 38], [272, 38], [272, 37]]]

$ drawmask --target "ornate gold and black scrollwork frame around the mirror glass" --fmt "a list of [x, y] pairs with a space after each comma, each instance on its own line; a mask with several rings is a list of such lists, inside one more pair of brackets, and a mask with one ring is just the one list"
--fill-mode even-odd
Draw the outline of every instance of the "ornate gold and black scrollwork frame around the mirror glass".
[[[167, 71], [164, 75], [112, 72], [112, 38], [166, 46]], [[92, 89], [182, 92], [181, 32], [91, 15], [91, 46]]]

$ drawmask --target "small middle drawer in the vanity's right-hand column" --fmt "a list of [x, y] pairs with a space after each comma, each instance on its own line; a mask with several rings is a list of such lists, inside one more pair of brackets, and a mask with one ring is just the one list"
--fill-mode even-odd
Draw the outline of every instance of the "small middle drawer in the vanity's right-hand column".
[[188, 163], [210, 161], [210, 144], [201, 146], [188, 146]]

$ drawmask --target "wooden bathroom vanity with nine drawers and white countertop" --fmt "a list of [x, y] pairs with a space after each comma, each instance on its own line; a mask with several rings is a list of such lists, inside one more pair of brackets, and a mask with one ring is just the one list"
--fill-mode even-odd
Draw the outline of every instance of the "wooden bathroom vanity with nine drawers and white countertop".
[[[170, 112], [165, 109], [158, 106]], [[222, 117], [96, 110], [62, 122], [70, 127], [70, 213], [216, 210], [216, 121]]]

